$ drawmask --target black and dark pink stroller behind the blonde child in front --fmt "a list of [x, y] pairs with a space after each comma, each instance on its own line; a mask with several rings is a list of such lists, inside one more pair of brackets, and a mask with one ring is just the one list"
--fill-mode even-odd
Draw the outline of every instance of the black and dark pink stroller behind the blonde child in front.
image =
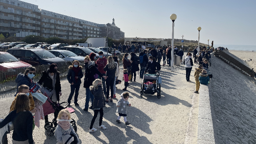
[[[46, 109], [46, 111], [48, 111], [48, 113], [47, 112], [45, 113], [45, 111], [44, 111], [44, 115], [49, 115], [54, 112], [59, 113], [62, 109], [66, 109], [68, 107], [68, 102], [61, 102], [60, 104], [59, 103], [56, 104], [55, 102], [51, 101], [51, 99], [48, 97], [48, 95], [46, 95], [46, 97], [47, 97], [47, 101], [46, 101], [46, 103], [43, 104], [43, 109], [44, 110]], [[65, 103], [66, 103], [65, 107], [61, 106], [61, 105], [64, 105]], [[70, 113], [75, 112], [74, 109], [72, 109], [72, 108], [68, 108], [68, 111]], [[72, 127], [74, 128], [75, 132], [77, 132], [77, 125], [75, 124], [75, 120], [72, 119], [72, 121], [70, 121], [70, 123], [71, 123]], [[44, 129], [47, 130], [47, 135], [53, 136], [57, 125], [58, 124], [57, 124], [56, 118], [53, 119], [53, 122], [50, 122], [50, 121], [47, 122], [44, 125]]]

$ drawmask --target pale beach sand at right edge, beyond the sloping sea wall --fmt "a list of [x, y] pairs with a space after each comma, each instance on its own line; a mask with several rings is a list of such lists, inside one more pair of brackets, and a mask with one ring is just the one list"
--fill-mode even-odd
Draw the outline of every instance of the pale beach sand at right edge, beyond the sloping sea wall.
[[[228, 50], [231, 54], [245, 61], [249, 68], [253, 68], [256, 71], [256, 52], [241, 51], [241, 50]], [[250, 61], [252, 59], [252, 61]]]

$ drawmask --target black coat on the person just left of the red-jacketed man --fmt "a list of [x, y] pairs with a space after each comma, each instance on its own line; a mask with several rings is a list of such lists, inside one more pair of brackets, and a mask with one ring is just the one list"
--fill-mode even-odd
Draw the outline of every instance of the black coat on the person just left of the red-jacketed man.
[[98, 74], [100, 77], [102, 77], [103, 75], [96, 68], [95, 61], [91, 61], [90, 64], [84, 65], [84, 68], [85, 68], [84, 88], [89, 88], [91, 85], [93, 85], [93, 81], [95, 80], [94, 78], [95, 74]]

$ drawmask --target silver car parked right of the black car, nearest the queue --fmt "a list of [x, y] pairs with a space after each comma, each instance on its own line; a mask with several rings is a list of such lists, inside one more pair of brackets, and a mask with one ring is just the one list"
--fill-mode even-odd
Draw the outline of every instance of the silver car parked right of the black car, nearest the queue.
[[74, 60], [83, 61], [84, 60], [84, 57], [77, 56], [76, 54], [68, 50], [48, 50], [48, 51], [54, 54], [54, 56], [60, 57], [65, 61], [74, 61]]

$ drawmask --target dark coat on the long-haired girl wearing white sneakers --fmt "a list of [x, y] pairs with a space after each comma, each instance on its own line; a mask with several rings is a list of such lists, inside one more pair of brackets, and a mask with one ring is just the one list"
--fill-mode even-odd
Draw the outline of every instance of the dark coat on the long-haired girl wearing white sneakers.
[[98, 85], [98, 89], [94, 90], [94, 88], [91, 90], [91, 93], [94, 96], [93, 100], [93, 108], [98, 109], [98, 108], [103, 108], [105, 106], [105, 98], [103, 94], [103, 88], [102, 86]]

